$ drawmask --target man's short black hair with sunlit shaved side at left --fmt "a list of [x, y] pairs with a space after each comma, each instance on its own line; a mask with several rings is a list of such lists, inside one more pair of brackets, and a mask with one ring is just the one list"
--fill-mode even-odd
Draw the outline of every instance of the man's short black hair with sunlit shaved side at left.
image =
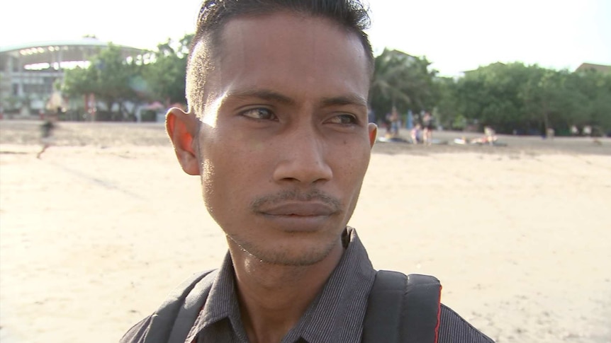
[[[370, 74], [373, 74], [374, 54], [369, 37], [364, 33], [370, 25], [369, 10], [360, 0], [204, 0], [186, 67], [189, 110], [194, 109], [197, 115], [202, 114], [201, 106], [205, 100], [203, 85], [211, 70], [215, 48], [220, 44], [220, 33], [225, 23], [239, 16], [264, 16], [281, 11], [327, 18], [356, 34], [368, 59]], [[206, 53], [202, 59], [194, 60], [194, 51], [200, 43], [206, 45]]]

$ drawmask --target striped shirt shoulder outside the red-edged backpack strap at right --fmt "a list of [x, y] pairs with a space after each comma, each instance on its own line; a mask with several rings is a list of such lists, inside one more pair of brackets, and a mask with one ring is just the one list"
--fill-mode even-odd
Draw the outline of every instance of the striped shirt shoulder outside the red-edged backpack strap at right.
[[442, 304], [439, 315], [439, 343], [494, 343], [458, 313]]

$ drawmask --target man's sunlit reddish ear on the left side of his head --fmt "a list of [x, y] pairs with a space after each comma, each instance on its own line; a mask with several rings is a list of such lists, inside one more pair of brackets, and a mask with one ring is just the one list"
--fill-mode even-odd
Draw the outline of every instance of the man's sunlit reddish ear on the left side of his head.
[[165, 128], [182, 170], [189, 175], [199, 175], [198, 155], [193, 144], [199, 131], [196, 115], [172, 107], [167, 111]]

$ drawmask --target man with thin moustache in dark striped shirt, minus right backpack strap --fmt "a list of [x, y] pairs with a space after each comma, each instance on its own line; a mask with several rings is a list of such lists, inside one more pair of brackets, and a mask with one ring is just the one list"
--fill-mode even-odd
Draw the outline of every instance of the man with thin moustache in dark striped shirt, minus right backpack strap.
[[[346, 225], [376, 139], [367, 19], [350, 0], [204, 1], [167, 131], [229, 252], [122, 342], [361, 342], [376, 272]], [[439, 342], [491, 342], [441, 315]]]

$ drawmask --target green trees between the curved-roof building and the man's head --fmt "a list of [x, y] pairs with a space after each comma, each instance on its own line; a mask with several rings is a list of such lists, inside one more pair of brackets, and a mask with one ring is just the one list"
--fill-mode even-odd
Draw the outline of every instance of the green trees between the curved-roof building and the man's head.
[[186, 58], [192, 39], [193, 35], [185, 35], [178, 42], [167, 40], [157, 45], [157, 51], [137, 58], [125, 58], [120, 47], [110, 44], [89, 66], [67, 70], [60, 88], [80, 104], [77, 110], [86, 106], [79, 99], [93, 94], [106, 108], [105, 120], [134, 120], [138, 105], [154, 101], [185, 104]]

